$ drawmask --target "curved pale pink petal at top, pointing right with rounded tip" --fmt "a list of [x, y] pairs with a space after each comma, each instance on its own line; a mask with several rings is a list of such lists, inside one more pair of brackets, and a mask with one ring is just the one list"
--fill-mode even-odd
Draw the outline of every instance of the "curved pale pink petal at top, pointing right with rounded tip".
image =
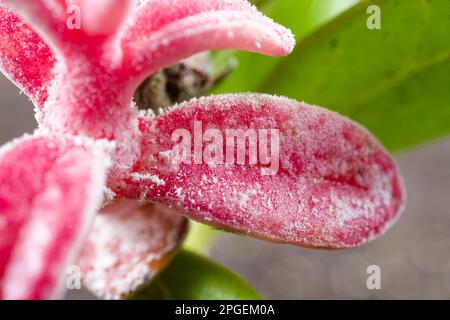
[[144, 75], [200, 51], [241, 49], [289, 54], [291, 32], [243, 0], [149, 0], [138, 8], [123, 47]]

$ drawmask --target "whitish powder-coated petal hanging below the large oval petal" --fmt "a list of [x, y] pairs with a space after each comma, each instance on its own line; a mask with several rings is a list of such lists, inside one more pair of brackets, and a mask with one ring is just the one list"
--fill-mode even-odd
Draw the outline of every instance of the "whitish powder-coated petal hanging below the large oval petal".
[[78, 259], [87, 288], [120, 299], [147, 283], [172, 258], [186, 219], [172, 210], [122, 200], [97, 216]]

